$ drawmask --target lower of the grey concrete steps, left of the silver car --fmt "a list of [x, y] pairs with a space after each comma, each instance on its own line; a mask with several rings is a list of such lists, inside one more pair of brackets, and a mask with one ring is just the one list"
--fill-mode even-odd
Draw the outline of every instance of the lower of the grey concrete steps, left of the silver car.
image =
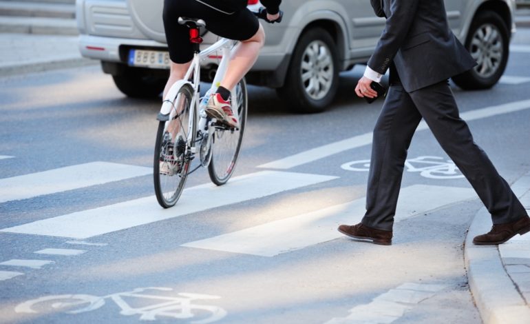
[[77, 35], [75, 19], [49, 17], [0, 17], [0, 32]]

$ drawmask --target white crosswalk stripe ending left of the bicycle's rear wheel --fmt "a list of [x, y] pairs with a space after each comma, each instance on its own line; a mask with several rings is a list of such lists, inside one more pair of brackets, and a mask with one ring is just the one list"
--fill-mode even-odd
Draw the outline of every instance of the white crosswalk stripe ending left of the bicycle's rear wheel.
[[91, 162], [0, 179], [0, 203], [152, 174], [152, 168]]

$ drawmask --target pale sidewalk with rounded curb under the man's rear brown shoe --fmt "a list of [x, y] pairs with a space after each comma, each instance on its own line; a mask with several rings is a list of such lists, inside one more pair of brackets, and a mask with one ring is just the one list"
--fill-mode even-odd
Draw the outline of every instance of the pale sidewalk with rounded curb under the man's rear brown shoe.
[[[530, 213], [530, 172], [511, 186]], [[474, 245], [489, 232], [491, 216], [480, 210], [465, 240], [465, 265], [471, 294], [485, 324], [530, 323], [530, 233], [501, 245]]]

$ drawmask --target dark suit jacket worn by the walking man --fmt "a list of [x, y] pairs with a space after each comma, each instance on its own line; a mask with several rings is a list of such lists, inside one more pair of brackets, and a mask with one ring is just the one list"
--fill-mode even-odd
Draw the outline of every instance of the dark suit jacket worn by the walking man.
[[476, 65], [447, 23], [443, 0], [370, 0], [386, 25], [368, 66], [385, 74], [394, 62], [405, 91], [412, 92]]

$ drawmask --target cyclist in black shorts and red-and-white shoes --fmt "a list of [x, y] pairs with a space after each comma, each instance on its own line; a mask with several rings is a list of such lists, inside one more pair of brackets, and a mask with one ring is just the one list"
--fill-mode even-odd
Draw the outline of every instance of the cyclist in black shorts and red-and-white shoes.
[[[206, 28], [221, 37], [240, 41], [229, 62], [224, 79], [206, 104], [206, 114], [231, 127], [237, 128], [239, 121], [232, 113], [230, 90], [244, 77], [255, 63], [259, 50], [265, 42], [263, 27], [257, 17], [246, 8], [247, 0], [165, 0], [164, 28], [171, 68], [163, 98], [176, 81], [187, 72], [193, 48], [189, 42], [189, 31], [180, 25], [178, 17], [193, 17], [206, 22]], [[267, 21], [279, 19], [279, 4], [282, 0], [261, 0], [267, 12]]]

